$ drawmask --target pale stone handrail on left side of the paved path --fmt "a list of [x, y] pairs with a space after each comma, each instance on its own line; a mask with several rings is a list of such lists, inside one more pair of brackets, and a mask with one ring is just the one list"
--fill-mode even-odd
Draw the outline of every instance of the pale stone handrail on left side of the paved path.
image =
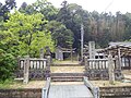
[[41, 98], [48, 98], [49, 88], [50, 88], [50, 77], [47, 77], [46, 85], [41, 89]]

